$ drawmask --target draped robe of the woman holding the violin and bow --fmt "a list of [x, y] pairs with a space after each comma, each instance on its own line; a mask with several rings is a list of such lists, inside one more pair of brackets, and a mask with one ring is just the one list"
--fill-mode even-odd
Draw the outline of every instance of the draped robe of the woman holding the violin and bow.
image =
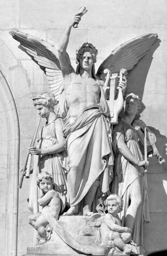
[[142, 161], [143, 157], [138, 145], [138, 136], [133, 126], [118, 119], [118, 124], [113, 127], [113, 152], [114, 152], [114, 178], [112, 182], [112, 193], [118, 194], [123, 199], [123, 211], [118, 215], [121, 219], [122, 226], [125, 224], [126, 210], [130, 205], [130, 196], [132, 183], [139, 177], [141, 187], [141, 205], [138, 210], [134, 228], [132, 230], [132, 240], [143, 247], [143, 225], [150, 222], [148, 207], [148, 188], [147, 174], [143, 167], [138, 167], [125, 159], [118, 151], [117, 142], [120, 135], [123, 134], [125, 143], [129, 147], [132, 154]]

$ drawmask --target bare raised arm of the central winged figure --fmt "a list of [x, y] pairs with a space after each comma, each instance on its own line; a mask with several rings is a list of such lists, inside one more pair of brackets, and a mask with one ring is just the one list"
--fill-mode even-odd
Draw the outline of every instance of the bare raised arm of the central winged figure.
[[72, 17], [71, 21], [67, 25], [67, 27], [66, 27], [66, 29], [65, 29], [62, 37], [61, 37], [59, 47], [58, 47], [59, 61], [60, 61], [60, 65], [61, 65], [61, 70], [64, 74], [71, 73], [70, 72], [71, 71], [70, 68], [72, 68], [71, 67], [71, 62], [70, 62], [70, 58], [68, 56], [68, 53], [66, 52], [66, 49], [67, 49], [67, 45], [68, 45], [68, 42], [69, 42], [71, 28], [73, 27], [73, 25], [75, 23], [79, 23], [80, 20], [81, 20], [81, 17], [77, 14], [74, 15], [74, 17]]

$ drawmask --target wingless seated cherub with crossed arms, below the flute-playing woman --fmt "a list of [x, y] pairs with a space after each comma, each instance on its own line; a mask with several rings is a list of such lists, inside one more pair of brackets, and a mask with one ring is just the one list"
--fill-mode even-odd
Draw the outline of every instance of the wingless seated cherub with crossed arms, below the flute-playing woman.
[[42, 211], [29, 216], [29, 223], [38, 231], [40, 242], [43, 244], [47, 242], [46, 226], [49, 224], [46, 218], [47, 213], [52, 213], [56, 221], [59, 218], [61, 210], [61, 200], [58, 193], [53, 189], [53, 178], [48, 172], [41, 172], [37, 176], [37, 185], [42, 191], [38, 197], [38, 203], [42, 206]]

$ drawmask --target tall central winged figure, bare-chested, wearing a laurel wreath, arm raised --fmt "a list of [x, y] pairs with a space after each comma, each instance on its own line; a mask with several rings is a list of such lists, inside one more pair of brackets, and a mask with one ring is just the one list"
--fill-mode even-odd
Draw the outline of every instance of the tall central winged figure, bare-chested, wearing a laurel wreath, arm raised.
[[[79, 210], [83, 215], [93, 214], [96, 191], [100, 196], [107, 195], [113, 178], [110, 111], [103, 90], [103, 70], [110, 69], [114, 73], [121, 68], [132, 69], [157, 39], [157, 34], [150, 33], [120, 45], [102, 62], [97, 74], [98, 51], [92, 44], [84, 43], [76, 52], [75, 72], [66, 48], [71, 28], [79, 22], [80, 16], [76, 14], [62, 35], [58, 52], [49, 42], [18, 30], [10, 31], [32, 59], [45, 68], [50, 91], [59, 101], [58, 114], [67, 121], [63, 132], [69, 157], [67, 197], [70, 208], [65, 215], [78, 214]], [[126, 82], [119, 86], [124, 90]]]

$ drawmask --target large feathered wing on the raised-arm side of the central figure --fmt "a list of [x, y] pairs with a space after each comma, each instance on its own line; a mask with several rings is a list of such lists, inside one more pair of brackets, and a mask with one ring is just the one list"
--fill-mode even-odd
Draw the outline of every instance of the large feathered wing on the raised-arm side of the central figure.
[[54, 94], [55, 99], [59, 101], [64, 79], [56, 48], [42, 39], [19, 30], [12, 29], [9, 33], [20, 42], [21, 46], [27, 50], [32, 59], [37, 61], [39, 66], [45, 68], [50, 91]]

